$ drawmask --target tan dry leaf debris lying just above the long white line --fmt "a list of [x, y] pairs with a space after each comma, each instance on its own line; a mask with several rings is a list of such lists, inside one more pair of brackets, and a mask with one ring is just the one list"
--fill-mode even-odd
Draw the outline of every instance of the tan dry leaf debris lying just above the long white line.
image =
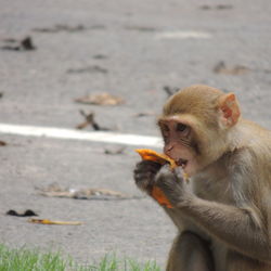
[[125, 100], [120, 96], [115, 96], [109, 93], [103, 92], [75, 99], [75, 102], [93, 105], [119, 105], [124, 104]]

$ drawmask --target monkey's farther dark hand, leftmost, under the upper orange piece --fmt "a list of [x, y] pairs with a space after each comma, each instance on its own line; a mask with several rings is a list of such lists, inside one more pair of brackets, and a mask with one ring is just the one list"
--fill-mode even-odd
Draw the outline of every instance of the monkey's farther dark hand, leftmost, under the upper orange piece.
[[151, 194], [155, 182], [155, 176], [162, 168], [162, 165], [153, 160], [142, 160], [137, 164], [133, 171], [133, 178], [139, 189]]

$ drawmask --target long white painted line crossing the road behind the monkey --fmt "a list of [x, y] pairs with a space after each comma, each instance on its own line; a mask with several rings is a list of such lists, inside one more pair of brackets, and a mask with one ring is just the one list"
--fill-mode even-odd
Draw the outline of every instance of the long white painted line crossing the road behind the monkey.
[[61, 129], [53, 127], [36, 127], [0, 124], [0, 133], [16, 134], [25, 137], [44, 137], [67, 140], [85, 140], [103, 143], [115, 143], [125, 145], [160, 147], [162, 140], [157, 137], [125, 134], [117, 132], [102, 131], [79, 131], [72, 129]]

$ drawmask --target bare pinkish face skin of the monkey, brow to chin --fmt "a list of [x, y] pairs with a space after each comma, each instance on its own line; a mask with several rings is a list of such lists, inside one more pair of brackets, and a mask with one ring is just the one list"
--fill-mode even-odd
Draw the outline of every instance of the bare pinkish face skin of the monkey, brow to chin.
[[198, 168], [195, 152], [190, 145], [191, 128], [176, 117], [159, 121], [165, 140], [164, 153], [172, 158], [189, 176], [193, 176]]

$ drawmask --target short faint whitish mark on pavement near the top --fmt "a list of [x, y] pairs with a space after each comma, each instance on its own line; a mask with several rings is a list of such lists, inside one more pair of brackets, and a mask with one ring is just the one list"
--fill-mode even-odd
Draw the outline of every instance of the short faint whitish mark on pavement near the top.
[[203, 31], [165, 31], [155, 36], [157, 39], [209, 39], [211, 35]]

